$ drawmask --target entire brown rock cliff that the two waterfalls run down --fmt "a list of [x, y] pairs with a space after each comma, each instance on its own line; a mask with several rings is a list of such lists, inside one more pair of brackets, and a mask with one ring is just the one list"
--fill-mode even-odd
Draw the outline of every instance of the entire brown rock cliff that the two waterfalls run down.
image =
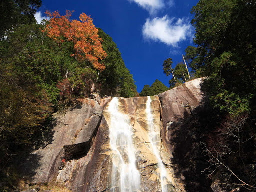
[[[171, 126], [200, 104], [201, 81], [195, 79], [149, 98], [118, 99], [116, 110], [129, 122], [135, 168], [140, 175], [139, 188], [134, 191], [185, 191], [182, 175], [177, 176], [173, 168]], [[99, 105], [85, 99], [66, 114], [55, 115], [52, 142], [35, 149], [21, 163], [24, 177], [30, 183], [58, 182], [77, 192], [129, 191], [123, 183], [129, 178], [121, 179], [129, 171], [123, 167], [131, 153], [122, 142], [126, 135], [117, 148], [111, 144], [111, 101], [111, 97], [101, 99]]]

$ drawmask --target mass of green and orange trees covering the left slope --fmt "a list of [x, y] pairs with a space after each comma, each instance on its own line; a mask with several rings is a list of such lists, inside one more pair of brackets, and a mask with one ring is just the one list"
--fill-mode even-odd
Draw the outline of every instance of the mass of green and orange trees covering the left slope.
[[1, 191], [15, 185], [10, 165], [18, 150], [38, 142], [60, 106], [92, 92], [137, 94], [116, 44], [91, 17], [82, 13], [78, 21], [71, 20], [71, 11], [64, 16], [47, 11], [50, 20], [37, 24], [33, 14], [40, 0], [3, 0], [0, 8], [6, 4], [10, 10], [0, 19]]

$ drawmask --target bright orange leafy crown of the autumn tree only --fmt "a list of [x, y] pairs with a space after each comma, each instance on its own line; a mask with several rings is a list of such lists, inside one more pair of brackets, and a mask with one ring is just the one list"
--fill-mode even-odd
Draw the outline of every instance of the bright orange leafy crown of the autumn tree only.
[[102, 39], [98, 36], [98, 29], [93, 24], [93, 19], [85, 13], [80, 14], [78, 20], [70, 21], [72, 11], [67, 10], [66, 15], [61, 16], [58, 11], [45, 12], [51, 19], [45, 28], [50, 38], [61, 44], [64, 41], [74, 43], [75, 56], [78, 61], [89, 60], [95, 69], [102, 71], [105, 65], [99, 63], [107, 54], [102, 48]]

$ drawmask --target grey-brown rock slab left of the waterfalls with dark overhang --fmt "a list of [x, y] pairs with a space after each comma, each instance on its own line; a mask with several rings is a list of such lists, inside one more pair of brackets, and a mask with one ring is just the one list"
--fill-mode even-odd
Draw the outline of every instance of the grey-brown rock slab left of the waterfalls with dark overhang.
[[[55, 115], [50, 144], [33, 151], [21, 166], [31, 183], [47, 183], [56, 176], [67, 160], [85, 156], [97, 133], [103, 108], [96, 101], [71, 108], [65, 115]], [[38, 159], [33, 160], [33, 159]]]

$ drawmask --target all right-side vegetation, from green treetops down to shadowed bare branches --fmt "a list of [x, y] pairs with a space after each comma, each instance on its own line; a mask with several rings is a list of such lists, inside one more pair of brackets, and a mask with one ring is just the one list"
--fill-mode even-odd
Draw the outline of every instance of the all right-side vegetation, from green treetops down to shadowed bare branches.
[[212, 117], [194, 120], [209, 163], [205, 172], [219, 182], [215, 190], [256, 186], [255, 12], [251, 0], [200, 0], [191, 10], [197, 47], [187, 47], [185, 58], [195, 76], [208, 77], [202, 88]]

